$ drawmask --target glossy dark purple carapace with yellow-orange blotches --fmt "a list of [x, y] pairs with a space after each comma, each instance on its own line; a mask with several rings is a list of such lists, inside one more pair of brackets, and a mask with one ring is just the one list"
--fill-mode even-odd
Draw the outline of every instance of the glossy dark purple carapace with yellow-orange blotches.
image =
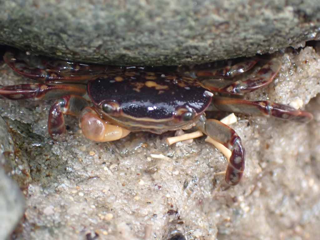
[[95, 105], [115, 102], [122, 114], [156, 121], [179, 118], [181, 109], [198, 116], [212, 100], [212, 93], [196, 79], [148, 72], [99, 75], [88, 82], [87, 88]]

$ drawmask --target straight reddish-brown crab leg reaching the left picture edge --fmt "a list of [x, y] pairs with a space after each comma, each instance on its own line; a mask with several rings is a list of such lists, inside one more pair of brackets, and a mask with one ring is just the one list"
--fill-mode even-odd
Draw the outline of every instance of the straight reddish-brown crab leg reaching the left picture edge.
[[66, 94], [83, 96], [86, 92], [86, 85], [83, 84], [18, 84], [1, 87], [0, 98], [11, 100], [55, 99]]

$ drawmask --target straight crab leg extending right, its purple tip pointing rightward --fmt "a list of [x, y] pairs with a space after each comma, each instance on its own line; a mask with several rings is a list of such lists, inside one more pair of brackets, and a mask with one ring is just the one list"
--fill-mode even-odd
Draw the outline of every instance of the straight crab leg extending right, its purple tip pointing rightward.
[[312, 114], [309, 112], [267, 100], [249, 101], [244, 99], [214, 97], [212, 99], [212, 105], [219, 110], [259, 116], [275, 116], [299, 123], [308, 123], [313, 119]]

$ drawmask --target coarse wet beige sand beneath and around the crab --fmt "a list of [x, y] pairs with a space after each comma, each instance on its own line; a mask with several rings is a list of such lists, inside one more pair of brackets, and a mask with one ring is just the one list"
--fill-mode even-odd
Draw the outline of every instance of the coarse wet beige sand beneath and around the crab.
[[[85, 139], [77, 119], [67, 116], [67, 141], [56, 143], [46, 128], [51, 101], [1, 100], [1, 115], [8, 117], [22, 150], [31, 154], [33, 181], [25, 220], [14, 237], [160, 240], [178, 230], [202, 240], [318, 239], [319, 46], [275, 53], [283, 63], [278, 76], [247, 95], [301, 106], [315, 119], [297, 124], [239, 116], [231, 127], [243, 140], [246, 170], [241, 183], [224, 192], [219, 191], [220, 172], [227, 161], [204, 138], [167, 146], [165, 138], [174, 132], [131, 133], [97, 143]], [[3, 62], [0, 73], [3, 85], [30, 82]]]

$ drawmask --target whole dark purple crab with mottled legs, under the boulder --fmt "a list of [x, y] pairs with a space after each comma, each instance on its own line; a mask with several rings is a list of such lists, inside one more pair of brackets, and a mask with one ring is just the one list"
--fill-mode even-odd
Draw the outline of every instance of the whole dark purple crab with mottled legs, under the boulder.
[[225, 183], [221, 185], [226, 190], [241, 180], [245, 150], [232, 128], [216, 119], [206, 119], [205, 111], [274, 116], [300, 123], [313, 118], [310, 113], [288, 105], [230, 97], [272, 82], [281, 68], [276, 59], [268, 60], [253, 78], [224, 80], [248, 71], [258, 60], [253, 57], [222, 68], [212, 68], [211, 63], [180, 66], [169, 72], [152, 67], [122, 68], [48, 59], [31, 67], [26, 54], [9, 50], [4, 61], [17, 73], [42, 83], [1, 86], [0, 97], [57, 99], [48, 118], [48, 131], [53, 139], [66, 133], [64, 114], [78, 116], [83, 135], [100, 142], [118, 140], [130, 132], [161, 134], [197, 126], [231, 151]]

